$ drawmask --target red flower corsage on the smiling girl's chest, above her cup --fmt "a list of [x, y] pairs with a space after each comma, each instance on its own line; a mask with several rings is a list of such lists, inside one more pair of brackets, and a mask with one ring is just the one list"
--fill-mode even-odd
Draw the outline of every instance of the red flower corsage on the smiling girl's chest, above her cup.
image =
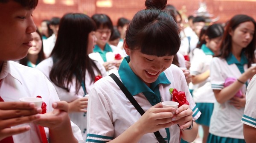
[[177, 91], [175, 88], [169, 89], [170, 93], [172, 94], [172, 101], [178, 102], [179, 106], [183, 104], [189, 105], [189, 102], [186, 100], [186, 94], [183, 91]]

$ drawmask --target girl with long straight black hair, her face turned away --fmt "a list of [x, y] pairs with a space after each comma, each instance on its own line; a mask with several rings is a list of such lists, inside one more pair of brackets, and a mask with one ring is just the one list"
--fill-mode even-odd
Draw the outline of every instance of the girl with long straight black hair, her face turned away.
[[[69, 103], [71, 121], [86, 139], [87, 102], [96, 76], [106, 76], [105, 68], [89, 58], [95, 45], [96, 25], [85, 14], [69, 13], [61, 18], [51, 57], [36, 67], [53, 83], [60, 100]], [[72, 37], [72, 38], [70, 38]]]

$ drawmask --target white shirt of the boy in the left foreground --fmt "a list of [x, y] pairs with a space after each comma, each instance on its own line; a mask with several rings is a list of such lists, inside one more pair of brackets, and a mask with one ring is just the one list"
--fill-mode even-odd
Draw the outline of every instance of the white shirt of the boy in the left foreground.
[[[41, 96], [47, 104], [47, 112], [53, 110], [52, 103], [59, 101], [55, 88], [40, 71], [23, 66], [17, 62], [7, 61], [3, 63], [0, 79], [3, 79], [0, 87], [0, 96], [4, 101], [19, 101], [22, 97]], [[19, 126], [24, 126], [19, 125]], [[41, 135], [38, 125], [26, 123], [31, 129], [27, 132], [13, 135], [14, 143], [41, 143]], [[72, 131], [79, 143], [83, 143], [81, 131], [71, 122]], [[49, 140], [49, 130], [44, 128]]]

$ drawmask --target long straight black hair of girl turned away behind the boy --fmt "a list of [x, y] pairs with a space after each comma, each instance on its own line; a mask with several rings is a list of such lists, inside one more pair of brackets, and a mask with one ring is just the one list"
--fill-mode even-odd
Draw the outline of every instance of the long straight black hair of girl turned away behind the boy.
[[74, 84], [74, 76], [78, 93], [81, 83], [85, 81], [86, 70], [91, 82], [95, 78], [93, 67], [101, 73], [87, 54], [88, 35], [95, 30], [95, 23], [85, 14], [69, 13], [61, 18], [58, 36], [51, 53], [53, 66], [49, 77], [55, 85], [67, 92], [70, 91], [70, 85]]

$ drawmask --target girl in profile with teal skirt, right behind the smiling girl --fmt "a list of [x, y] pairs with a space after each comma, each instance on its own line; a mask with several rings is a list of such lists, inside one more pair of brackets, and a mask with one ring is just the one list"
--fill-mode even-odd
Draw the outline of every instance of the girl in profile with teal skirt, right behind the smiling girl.
[[224, 29], [220, 24], [213, 24], [207, 28], [204, 40], [200, 41], [202, 46], [196, 48], [198, 52], [194, 55], [194, 60], [190, 67], [192, 84], [198, 84], [198, 87], [193, 90], [193, 98], [202, 114], [195, 122], [203, 127], [203, 143], [207, 141], [210, 119], [216, 101], [209, 77], [210, 62], [212, 61], [212, 56], [220, 54], [219, 43], [223, 33]]

